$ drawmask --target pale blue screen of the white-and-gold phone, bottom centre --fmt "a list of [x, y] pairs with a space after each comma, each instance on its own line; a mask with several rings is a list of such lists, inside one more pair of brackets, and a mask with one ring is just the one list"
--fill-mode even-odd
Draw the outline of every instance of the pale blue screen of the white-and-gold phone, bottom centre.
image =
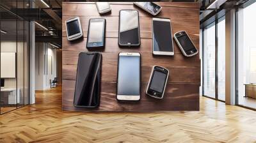
[[119, 56], [117, 94], [140, 94], [140, 56]]

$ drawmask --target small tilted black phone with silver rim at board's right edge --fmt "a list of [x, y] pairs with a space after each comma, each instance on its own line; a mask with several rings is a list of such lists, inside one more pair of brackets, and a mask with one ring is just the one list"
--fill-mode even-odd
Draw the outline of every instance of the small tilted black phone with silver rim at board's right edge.
[[193, 41], [189, 38], [186, 31], [179, 31], [174, 34], [174, 39], [179, 45], [182, 54], [186, 57], [194, 56], [198, 53]]

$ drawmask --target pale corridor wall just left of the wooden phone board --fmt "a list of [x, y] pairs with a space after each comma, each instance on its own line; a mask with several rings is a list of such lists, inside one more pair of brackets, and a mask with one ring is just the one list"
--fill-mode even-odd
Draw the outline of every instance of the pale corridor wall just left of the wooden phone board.
[[50, 80], [56, 77], [56, 49], [49, 43], [36, 43], [35, 47], [35, 90], [49, 89]]

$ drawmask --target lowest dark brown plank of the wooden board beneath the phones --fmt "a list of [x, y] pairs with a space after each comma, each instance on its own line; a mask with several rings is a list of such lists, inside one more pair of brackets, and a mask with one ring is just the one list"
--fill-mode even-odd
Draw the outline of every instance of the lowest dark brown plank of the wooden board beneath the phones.
[[[63, 99], [65, 105], [63, 109], [86, 110], [76, 108], [73, 105], [75, 80], [63, 80]], [[147, 82], [141, 82], [141, 100], [140, 102], [118, 102], [116, 100], [116, 82], [101, 82], [102, 93], [100, 94], [100, 107], [95, 109], [99, 111], [132, 111], [132, 112], [150, 112], [154, 110], [195, 110], [192, 106], [199, 109], [199, 88], [197, 84], [171, 84], [166, 85], [163, 100], [156, 100], [145, 94]], [[186, 91], [184, 91], [186, 88]], [[175, 93], [175, 94], [173, 94]], [[180, 103], [182, 100], [182, 103]], [[197, 106], [197, 107], [196, 107]], [[92, 109], [88, 109], [92, 110]]]

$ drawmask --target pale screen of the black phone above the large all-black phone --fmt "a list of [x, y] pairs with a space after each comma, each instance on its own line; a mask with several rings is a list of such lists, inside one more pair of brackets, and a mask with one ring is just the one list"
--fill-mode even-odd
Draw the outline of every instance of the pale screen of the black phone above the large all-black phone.
[[91, 22], [88, 42], [100, 42], [103, 36], [103, 22]]

